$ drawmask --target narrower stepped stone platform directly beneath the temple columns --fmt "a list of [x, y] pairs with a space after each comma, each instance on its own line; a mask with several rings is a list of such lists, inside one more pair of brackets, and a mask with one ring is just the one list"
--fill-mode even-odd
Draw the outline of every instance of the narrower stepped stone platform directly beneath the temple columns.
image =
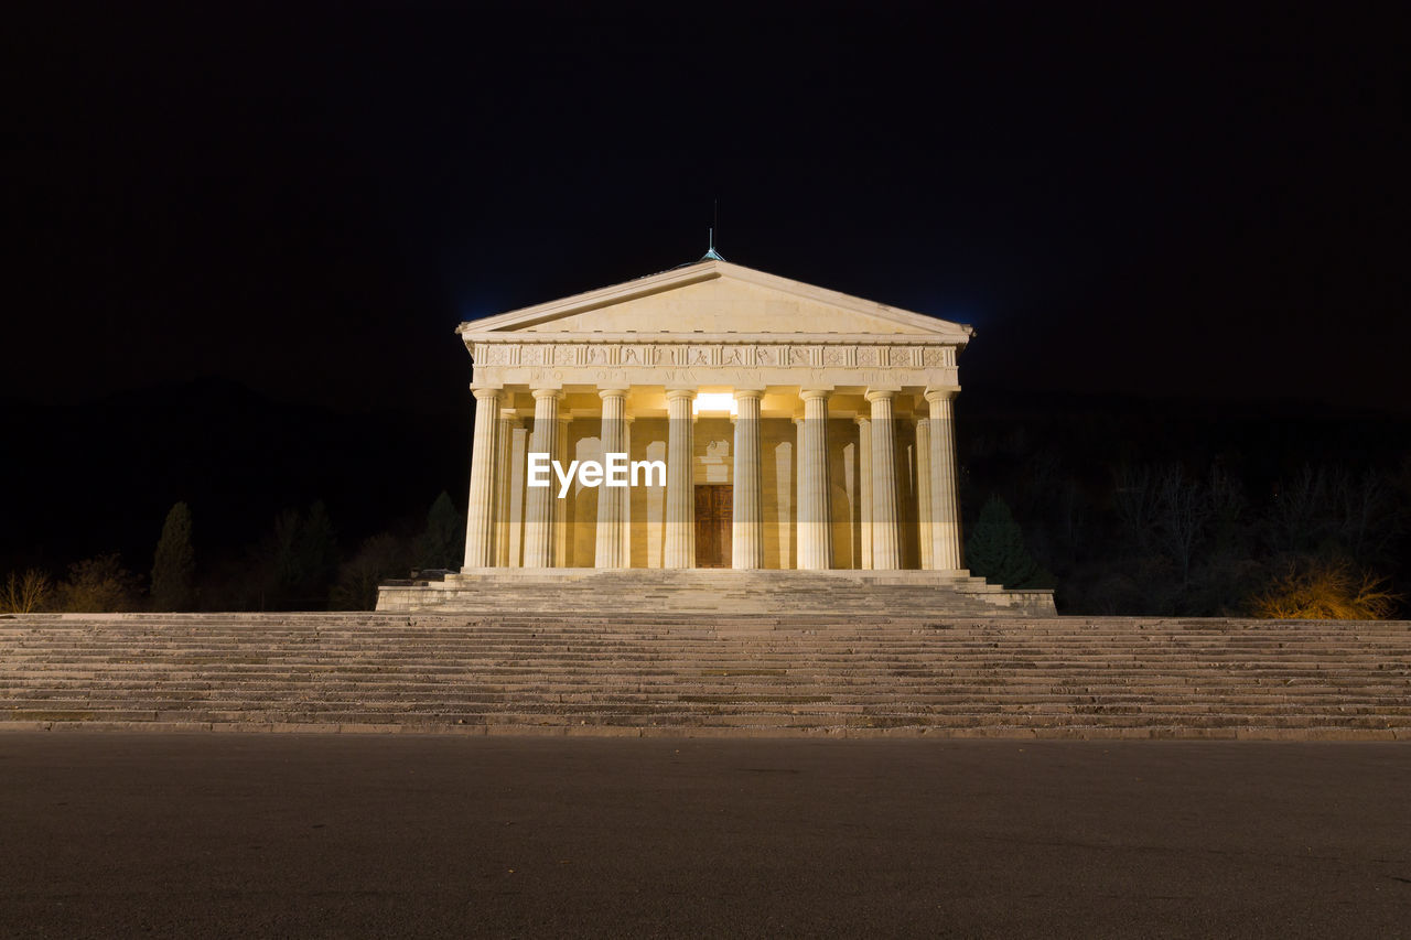
[[1009, 590], [969, 572], [480, 567], [389, 582], [378, 611], [1053, 617], [1051, 590]]

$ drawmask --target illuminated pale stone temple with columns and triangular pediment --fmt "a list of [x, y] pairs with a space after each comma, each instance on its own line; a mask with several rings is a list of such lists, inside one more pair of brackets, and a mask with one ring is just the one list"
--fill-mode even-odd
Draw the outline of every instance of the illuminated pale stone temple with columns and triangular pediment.
[[[964, 570], [952, 408], [969, 326], [713, 250], [457, 332], [476, 397], [466, 563], [384, 587], [381, 608], [624, 569], [893, 572], [1033, 600]], [[665, 486], [528, 486], [531, 454], [566, 470], [610, 453], [665, 464]]]

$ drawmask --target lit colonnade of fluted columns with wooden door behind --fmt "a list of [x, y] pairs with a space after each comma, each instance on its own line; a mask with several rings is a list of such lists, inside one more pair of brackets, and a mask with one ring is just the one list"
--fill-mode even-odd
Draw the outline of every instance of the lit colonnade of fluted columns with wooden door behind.
[[[476, 385], [466, 567], [886, 570], [933, 569], [933, 556], [958, 562], [959, 529], [941, 515], [954, 504], [954, 476], [933, 481], [928, 473], [927, 391], [937, 394]], [[557, 478], [528, 486], [531, 453], [564, 467], [625, 453], [665, 463], [666, 486], [646, 486], [650, 474], [628, 487], [574, 478], [560, 497]], [[941, 498], [924, 498], [931, 486]], [[933, 534], [955, 543], [933, 552]]]

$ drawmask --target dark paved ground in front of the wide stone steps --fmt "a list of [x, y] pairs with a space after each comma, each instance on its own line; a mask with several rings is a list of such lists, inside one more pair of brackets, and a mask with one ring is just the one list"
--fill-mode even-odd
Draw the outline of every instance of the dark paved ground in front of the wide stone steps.
[[1411, 936], [1411, 747], [0, 734], [3, 936]]

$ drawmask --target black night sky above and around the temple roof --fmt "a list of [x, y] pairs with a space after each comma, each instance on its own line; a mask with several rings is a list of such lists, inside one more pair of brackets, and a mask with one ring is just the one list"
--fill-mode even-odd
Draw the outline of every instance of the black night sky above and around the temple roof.
[[1395, 8], [34, 7], [0, 397], [446, 408], [457, 322], [718, 198], [731, 261], [974, 323], [967, 390], [1405, 411]]

